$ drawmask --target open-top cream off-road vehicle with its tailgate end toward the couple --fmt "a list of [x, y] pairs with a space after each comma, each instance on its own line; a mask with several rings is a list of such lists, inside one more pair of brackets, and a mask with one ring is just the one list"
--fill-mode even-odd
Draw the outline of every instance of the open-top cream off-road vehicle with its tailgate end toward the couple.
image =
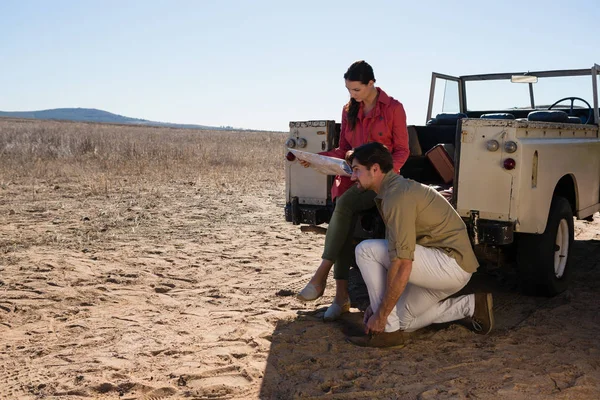
[[[600, 210], [599, 74], [597, 64], [460, 77], [433, 73], [427, 123], [408, 127], [410, 157], [401, 174], [451, 193], [480, 261], [515, 266], [527, 292], [566, 289], [573, 217], [591, 219]], [[338, 138], [334, 121], [291, 122], [286, 153], [328, 150]], [[327, 223], [331, 181], [287, 162], [286, 219], [313, 225], [309, 230]], [[382, 233], [376, 211], [359, 218], [357, 239]]]

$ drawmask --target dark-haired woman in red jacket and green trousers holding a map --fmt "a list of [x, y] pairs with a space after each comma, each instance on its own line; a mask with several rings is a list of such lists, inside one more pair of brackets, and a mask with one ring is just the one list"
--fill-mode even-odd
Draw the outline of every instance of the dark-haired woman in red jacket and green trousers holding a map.
[[[375, 87], [373, 68], [365, 61], [357, 61], [344, 74], [350, 101], [342, 110], [342, 129], [339, 147], [319, 153], [345, 158], [346, 152], [369, 142], [380, 142], [388, 147], [394, 160], [394, 171], [399, 172], [408, 158], [408, 132], [406, 114], [400, 102]], [[301, 161], [304, 167], [309, 163]], [[310, 282], [297, 298], [316, 300], [323, 295], [327, 276], [335, 265], [335, 299], [325, 312], [324, 319], [333, 321], [350, 309], [348, 276], [352, 262], [353, 217], [359, 211], [374, 206], [375, 192], [360, 191], [349, 177], [336, 176], [331, 189], [335, 209], [325, 236], [322, 261]]]

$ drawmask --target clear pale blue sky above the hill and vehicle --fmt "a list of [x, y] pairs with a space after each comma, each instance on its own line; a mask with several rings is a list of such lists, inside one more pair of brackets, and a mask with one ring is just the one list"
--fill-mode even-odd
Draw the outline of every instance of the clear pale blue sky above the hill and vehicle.
[[[407, 4], [409, 3], [409, 4]], [[343, 74], [425, 122], [431, 72], [600, 63], [598, 0], [0, 3], [0, 110], [90, 107], [155, 121], [288, 130], [340, 119]]]

